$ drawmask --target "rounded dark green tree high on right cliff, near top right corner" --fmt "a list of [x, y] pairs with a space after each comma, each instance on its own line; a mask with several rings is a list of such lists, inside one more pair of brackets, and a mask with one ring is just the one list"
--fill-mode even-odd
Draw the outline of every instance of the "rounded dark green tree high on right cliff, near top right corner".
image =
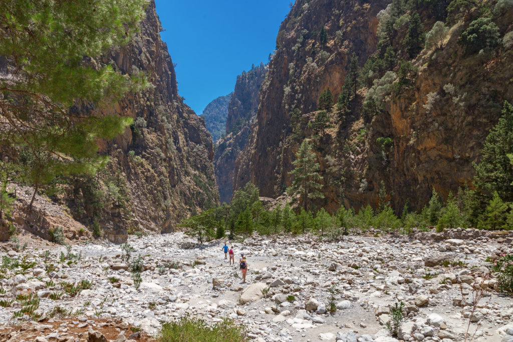
[[458, 39], [458, 43], [465, 47], [467, 54], [476, 53], [485, 48], [494, 48], [500, 42], [499, 28], [487, 17], [480, 17], [471, 22]]

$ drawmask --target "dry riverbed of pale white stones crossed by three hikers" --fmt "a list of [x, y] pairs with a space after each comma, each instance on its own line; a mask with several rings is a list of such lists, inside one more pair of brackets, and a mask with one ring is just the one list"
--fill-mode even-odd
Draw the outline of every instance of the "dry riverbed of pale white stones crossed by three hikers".
[[[396, 341], [385, 323], [399, 302], [399, 339], [464, 340], [470, 321], [474, 340], [513, 341], [513, 301], [497, 292], [485, 261], [513, 253], [512, 234], [459, 229], [333, 243], [255, 236], [233, 244], [236, 261], [248, 257], [246, 284], [224, 259], [223, 241], [198, 247], [173, 233], [128, 243], [131, 261], [143, 258], [139, 289], [119, 245], [0, 245], [0, 300], [9, 304], [0, 309], [0, 341], [151, 340], [162, 321], [184, 315], [230, 317], [260, 341]], [[32, 299], [38, 307], [23, 310]]]

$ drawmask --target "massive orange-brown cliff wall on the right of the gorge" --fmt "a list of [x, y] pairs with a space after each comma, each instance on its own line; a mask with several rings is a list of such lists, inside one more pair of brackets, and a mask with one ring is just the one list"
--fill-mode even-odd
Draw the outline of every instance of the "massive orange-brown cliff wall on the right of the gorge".
[[[324, 179], [318, 205], [330, 211], [341, 203], [376, 206], [382, 182], [396, 210], [407, 201], [423, 206], [432, 188], [446, 196], [469, 182], [503, 100], [513, 99], [507, 67], [513, 54], [505, 37], [512, 9], [495, 11], [491, 1], [483, 8], [494, 10], [460, 9], [464, 13], [449, 19], [449, 2], [408, 4], [295, 2], [280, 27], [250, 142], [236, 162], [235, 189], [251, 181], [263, 196], [282, 194], [305, 138], [315, 146]], [[442, 48], [422, 42], [410, 55], [406, 36], [417, 14], [420, 36], [436, 20], [445, 22]], [[503, 44], [467, 53], [459, 37], [480, 16], [497, 25]], [[326, 129], [316, 132], [309, 123], [319, 113], [319, 96], [329, 89], [337, 102], [350, 82], [353, 53], [360, 76], [347, 112], [331, 107]], [[380, 103], [370, 108], [374, 98]]]

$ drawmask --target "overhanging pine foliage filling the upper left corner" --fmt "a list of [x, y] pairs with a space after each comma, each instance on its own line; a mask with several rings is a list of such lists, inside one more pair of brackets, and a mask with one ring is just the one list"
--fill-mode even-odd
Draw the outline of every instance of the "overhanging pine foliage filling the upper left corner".
[[41, 169], [34, 184], [57, 174], [94, 173], [105, 164], [97, 139], [111, 139], [131, 123], [94, 108], [148, 87], [147, 78], [92, 58], [129, 42], [146, 3], [0, 2], [0, 65], [9, 75], [0, 77], [0, 146], [10, 155], [26, 147]]

